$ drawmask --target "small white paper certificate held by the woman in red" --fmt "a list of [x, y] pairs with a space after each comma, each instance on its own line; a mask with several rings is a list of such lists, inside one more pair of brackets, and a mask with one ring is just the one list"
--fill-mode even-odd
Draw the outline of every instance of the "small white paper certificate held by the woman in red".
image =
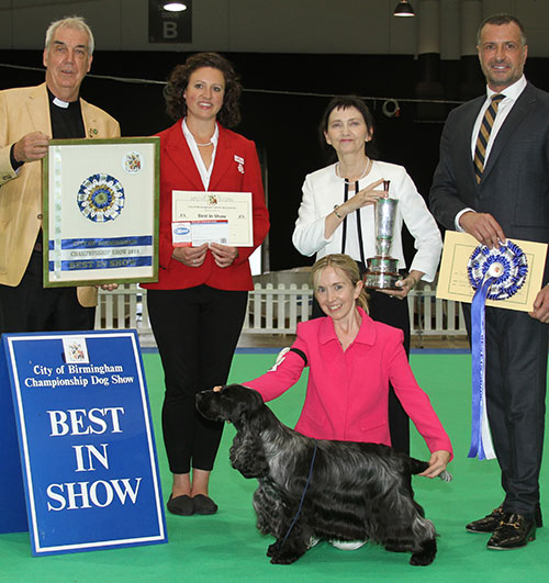
[[175, 247], [212, 242], [254, 246], [251, 192], [175, 190], [171, 194]]

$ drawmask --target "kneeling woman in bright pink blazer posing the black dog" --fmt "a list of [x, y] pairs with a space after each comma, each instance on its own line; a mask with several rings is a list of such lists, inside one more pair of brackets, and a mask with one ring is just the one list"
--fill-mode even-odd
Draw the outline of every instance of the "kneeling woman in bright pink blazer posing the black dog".
[[435, 478], [451, 458], [451, 444], [429, 397], [417, 384], [401, 329], [373, 321], [356, 262], [327, 255], [312, 269], [315, 295], [329, 316], [298, 324], [298, 338], [269, 372], [245, 382], [266, 401], [276, 399], [309, 366], [309, 384], [295, 429], [316, 439], [391, 445], [389, 383], [429, 448]]

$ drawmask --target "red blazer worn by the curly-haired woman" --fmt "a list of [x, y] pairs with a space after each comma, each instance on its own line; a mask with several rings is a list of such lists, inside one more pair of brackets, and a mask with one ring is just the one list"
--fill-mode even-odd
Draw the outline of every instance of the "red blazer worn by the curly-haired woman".
[[[143, 284], [156, 290], [182, 290], [205, 283], [219, 290], [251, 290], [248, 257], [269, 231], [261, 169], [254, 142], [220, 127], [220, 139], [210, 179], [211, 191], [251, 192], [254, 205], [254, 247], [239, 247], [231, 267], [215, 265], [208, 251], [200, 267], [187, 267], [171, 258], [171, 192], [204, 190], [191, 150], [183, 136], [181, 120], [160, 132], [160, 242], [158, 282]], [[235, 157], [238, 159], [236, 160]], [[239, 160], [244, 159], [244, 164]], [[240, 169], [244, 167], [244, 172]]]

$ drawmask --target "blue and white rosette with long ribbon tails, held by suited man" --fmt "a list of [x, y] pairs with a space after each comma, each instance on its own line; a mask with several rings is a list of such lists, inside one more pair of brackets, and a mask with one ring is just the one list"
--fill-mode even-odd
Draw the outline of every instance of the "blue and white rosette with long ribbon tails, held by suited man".
[[495, 458], [486, 415], [484, 304], [507, 300], [523, 287], [528, 261], [523, 249], [511, 240], [498, 249], [479, 245], [467, 265], [469, 282], [475, 290], [471, 304], [472, 425], [469, 458]]

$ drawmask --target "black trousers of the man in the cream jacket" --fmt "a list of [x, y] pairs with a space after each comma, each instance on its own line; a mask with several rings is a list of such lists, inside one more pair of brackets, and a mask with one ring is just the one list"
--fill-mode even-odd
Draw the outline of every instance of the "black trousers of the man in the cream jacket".
[[33, 251], [20, 284], [0, 284], [0, 334], [93, 329], [94, 307], [78, 302], [76, 288], [44, 288], [42, 254]]

